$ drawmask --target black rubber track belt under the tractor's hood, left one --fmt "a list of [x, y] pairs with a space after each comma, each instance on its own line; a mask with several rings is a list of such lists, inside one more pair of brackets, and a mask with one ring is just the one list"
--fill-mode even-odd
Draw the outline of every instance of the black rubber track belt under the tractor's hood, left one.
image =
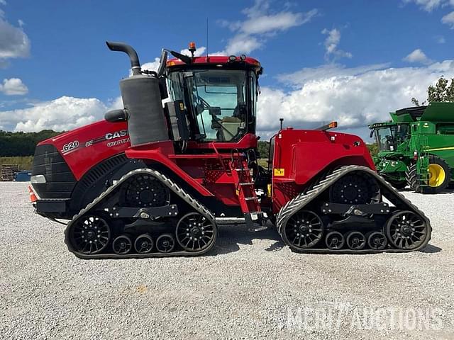
[[[214, 225], [214, 230], [215, 230], [215, 239], [212, 244], [201, 251], [174, 251], [172, 253], [150, 253], [150, 254], [93, 254], [93, 255], [88, 255], [88, 254], [83, 254], [79, 253], [78, 251], [75, 251], [72, 248], [72, 245], [70, 244], [70, 228], [74, 222], [79, 220], [80, 217], [88, 214], [98, 203], [103, 200], [106, 196], [109, 195], [109, 193], [112, 193], [116, 188], [118, 188], [124, 181], [129, 179], [131, 176], [135, 176], [138, 174], [148, 174], [150, 176], [155, 177], [155, 179], [158, 179], [163, 183], [167, 188], [170, 188], [171, 191], [173, 191], [177, 196], [182, 198], [189, 206], [191, 206], [196, 212], [199, 212], [201, 215], [203, 215], [207, 220], [209, 220], [213, 225]], [[67, 224], [67, 227], [65, 229], [65, 244], [68, 247], [68, 250], [72, 252], [75, 256], [79, 257], [80, 259], [144, 259], [144, 258], [153, 258], [153, 257], [170, 257], [170, 256], [199, 256], [201, 254], [205, 254], [207, 251], [211, 250], [216, 244], [216, 238], [217, 238], [217, 226], [216, 226], [216, 220], [214, 218], [214, 215], [211, 214], [211, 212], [206, 209], [203, 205], [199, 203], [196, 199], [192, 198], [192, 196], [189, 195], [186, 191], [184, 191], [182, 188], [180, 188], [177, 183], [173, 182], [171, 179], [169, 179], [167, 176], [161, 174], [159, 171], [156, 171], [154, 169], [135, 169], [132, 171], [129, 171], [128, 174], [125, 174], [124, 176], [121, 177], [118, 181], [116, 181], [112, 186], [109, 186], [109, 188], [106, 189], [101, 195], [93, 200], [92, 203], [89, 203], [86, 208], [83, 208], [82, 210], [79, 211], [77, 215], [74, 215], [72, 217], [72, 220]], [[177, 240], [175, 240], [177, 242]]]

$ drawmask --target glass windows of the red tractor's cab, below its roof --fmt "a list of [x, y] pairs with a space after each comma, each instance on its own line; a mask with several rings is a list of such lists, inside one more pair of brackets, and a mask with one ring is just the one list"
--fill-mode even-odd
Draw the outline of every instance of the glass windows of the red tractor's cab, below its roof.
[[192, 112], [196, 133], [203, 140], [238, 140], [255, 129], [253, 72], [232, 69], [171, 72], [169, 88], [172, 100], [183, 100]]

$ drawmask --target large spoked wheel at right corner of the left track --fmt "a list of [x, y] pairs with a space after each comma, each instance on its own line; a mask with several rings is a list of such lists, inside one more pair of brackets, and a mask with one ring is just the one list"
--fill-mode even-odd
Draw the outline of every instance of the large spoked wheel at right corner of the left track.
[[178, 244], [185, 251], [194, 252], [212, 246], [216, 241], [217, 229], [199, 212], [189, 212], [178, 221], [175, 234]]

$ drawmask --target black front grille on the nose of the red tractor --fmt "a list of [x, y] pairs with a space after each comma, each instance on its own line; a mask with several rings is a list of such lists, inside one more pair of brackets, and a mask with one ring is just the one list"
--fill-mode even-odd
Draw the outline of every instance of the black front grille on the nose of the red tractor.
[[32, 176], [35, 175], [44, 175], [46, 179], [46, 183], [33, 184], [40, 198], [70, 198], [77, 183], [65, 159], [50, 144], [35, 149]]

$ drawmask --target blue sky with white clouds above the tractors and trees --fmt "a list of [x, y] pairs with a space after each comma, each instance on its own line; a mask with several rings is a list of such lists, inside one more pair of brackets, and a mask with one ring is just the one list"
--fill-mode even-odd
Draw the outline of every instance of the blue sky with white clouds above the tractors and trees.
[[[208, 40], [206, 22], [208, 20]], [[162, 47], [260, 60], [258, 134], [285, 126], [368, 141], [367, 124], [454, 77], [454, 0], [0, 0], [0, 130], [70, 130], [121, 107], [127, 42], [145, 68]]]

